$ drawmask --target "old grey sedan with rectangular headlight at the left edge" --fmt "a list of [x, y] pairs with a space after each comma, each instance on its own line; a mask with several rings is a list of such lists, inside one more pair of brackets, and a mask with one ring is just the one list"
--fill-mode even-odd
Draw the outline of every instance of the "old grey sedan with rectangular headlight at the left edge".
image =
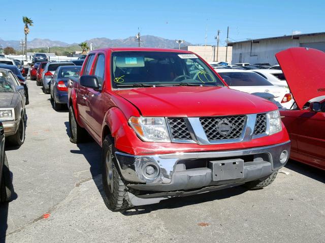
[[0, 120], [5, 136], [12, 145], [20, 146], [25, 141], [25, 91], [17, 77], [0, 68]]

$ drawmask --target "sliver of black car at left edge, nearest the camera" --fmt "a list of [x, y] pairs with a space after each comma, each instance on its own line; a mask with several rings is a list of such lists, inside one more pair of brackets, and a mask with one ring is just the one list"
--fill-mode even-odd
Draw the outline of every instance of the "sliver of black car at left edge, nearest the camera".
[[5, 152], [5, 130], [0, 121], [0, 203], [10, 201], [13, 186]]

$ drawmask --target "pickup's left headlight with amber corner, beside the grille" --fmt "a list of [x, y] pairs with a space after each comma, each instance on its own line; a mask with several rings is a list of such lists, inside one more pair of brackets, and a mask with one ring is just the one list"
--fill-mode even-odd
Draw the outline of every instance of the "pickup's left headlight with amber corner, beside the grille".
[[137, 135], [146, 142], [170, 142], [164, 117], [135, 117], [128, 120], [128, 124]]

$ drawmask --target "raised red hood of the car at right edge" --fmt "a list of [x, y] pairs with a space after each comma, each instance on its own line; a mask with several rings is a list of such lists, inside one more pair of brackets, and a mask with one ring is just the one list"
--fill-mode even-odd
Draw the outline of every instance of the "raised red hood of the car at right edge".
[[294, 47], [275, 54], [298, 108], [325, 95], [325, 53]]

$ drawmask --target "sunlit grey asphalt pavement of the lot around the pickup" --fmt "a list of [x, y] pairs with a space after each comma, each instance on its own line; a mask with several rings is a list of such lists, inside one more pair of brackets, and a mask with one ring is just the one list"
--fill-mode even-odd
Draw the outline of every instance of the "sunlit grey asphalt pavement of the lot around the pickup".
[[324, 172], [289, 161], [273, 184], [106, 208], [101, 148], [69, 141], [68, 110], [28, 80], [26, 140], [7, 147], [14, 200], [0, 206], [0, 242], [325, 242]]

